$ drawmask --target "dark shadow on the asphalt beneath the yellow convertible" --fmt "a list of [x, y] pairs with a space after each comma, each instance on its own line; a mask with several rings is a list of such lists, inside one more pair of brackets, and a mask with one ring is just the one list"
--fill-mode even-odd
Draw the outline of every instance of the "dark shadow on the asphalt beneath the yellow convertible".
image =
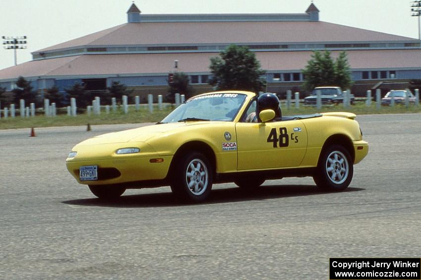
[[[311, 185], [271, 185], [263, 186], [254, 190], [243, 190], [237, 187], [212, 190], [209, 200], [202, 204], [241, 202], [249, 200], [270, 200], [289, 197], [314, 196], [314, 195], [340, 195], [341, 193], [364, 191], [362, 188], [347, 188], [342, 192], [321, 191]], [[189, 205], [178, 201], [172, 193], [140, 194], [121, 196], [116, 200], [81, 199], [66, 200], [62, 203], [81, 206], [102, 206], [102, 207], [174, 207]], [[191, 205], [191, 204], [190, 204]]]

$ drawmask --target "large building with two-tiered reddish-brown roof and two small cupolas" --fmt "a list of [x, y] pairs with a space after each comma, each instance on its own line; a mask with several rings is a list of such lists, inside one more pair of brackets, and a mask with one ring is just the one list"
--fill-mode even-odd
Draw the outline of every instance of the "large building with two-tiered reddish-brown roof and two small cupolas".
[[0, 70], [0, 86], [11, 90], [19, 76], [39, 92], [75, 82], [104, 90], [120, 81], [145, 96], [164, 94], [168, 73], [179, 71], [199, 93], [212, 89], [210, 58], [232, 43], [256, 53], [267, 72], [266, 90], [280, 94], [301, 90], [301, 69], [313, 50], [347, 51], [357, 95], [379, 86], [404, 88], [421, 77], [420, 40], [322, 22], [313, 3], [297, 14], [142, 14], [133, 3], [127, 15], [125, 24], [35, 51], [32, 61]]

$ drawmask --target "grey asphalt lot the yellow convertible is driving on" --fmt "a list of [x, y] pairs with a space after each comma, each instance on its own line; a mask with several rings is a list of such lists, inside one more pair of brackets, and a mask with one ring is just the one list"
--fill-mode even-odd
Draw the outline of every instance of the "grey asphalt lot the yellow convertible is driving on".
[[[0, 279], [328, 279], [329, 257], [421, 257], [421, 114], [358, 116], [369, 142], [350, 187], [168, 187], [96, 199], [67, 172], [72, 146], [139, 126], [0, 130]], [[142, 124], [143, 125], [143, 124]]]

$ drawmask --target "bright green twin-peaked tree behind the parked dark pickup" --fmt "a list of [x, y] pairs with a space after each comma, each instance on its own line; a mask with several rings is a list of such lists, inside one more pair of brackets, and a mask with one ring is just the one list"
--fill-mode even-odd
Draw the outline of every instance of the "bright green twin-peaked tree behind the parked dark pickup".
[[335, 61], [328, 50], [323, 53], [314, 51], [311, 60], [308, 61], [302, 72], [305, 77], [303, 87], [308, 91], [322, 85], [335, 85], [343, 89], [352, 85], [351, 71], [345, 51], [340, 52]]

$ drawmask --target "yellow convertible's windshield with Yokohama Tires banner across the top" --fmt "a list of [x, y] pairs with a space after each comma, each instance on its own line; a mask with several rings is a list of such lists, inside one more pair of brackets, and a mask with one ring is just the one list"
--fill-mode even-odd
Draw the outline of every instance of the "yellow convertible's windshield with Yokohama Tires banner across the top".
[[177, 121], [232, 121], [240, 110], [245, 94], [213, 93], [190, 98], [160, 123]]

